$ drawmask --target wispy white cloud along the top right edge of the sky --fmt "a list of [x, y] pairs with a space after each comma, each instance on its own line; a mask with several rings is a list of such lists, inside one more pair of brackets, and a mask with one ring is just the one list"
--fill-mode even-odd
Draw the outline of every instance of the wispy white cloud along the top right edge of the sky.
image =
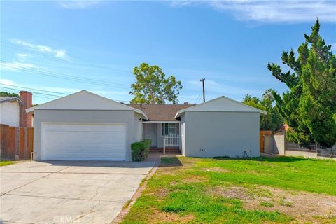
[[336, 22], [336, 1], [173, 1], [172, 6], [207, 5], [220, 11], [232, 13], [238, 20], [265, 23]]

